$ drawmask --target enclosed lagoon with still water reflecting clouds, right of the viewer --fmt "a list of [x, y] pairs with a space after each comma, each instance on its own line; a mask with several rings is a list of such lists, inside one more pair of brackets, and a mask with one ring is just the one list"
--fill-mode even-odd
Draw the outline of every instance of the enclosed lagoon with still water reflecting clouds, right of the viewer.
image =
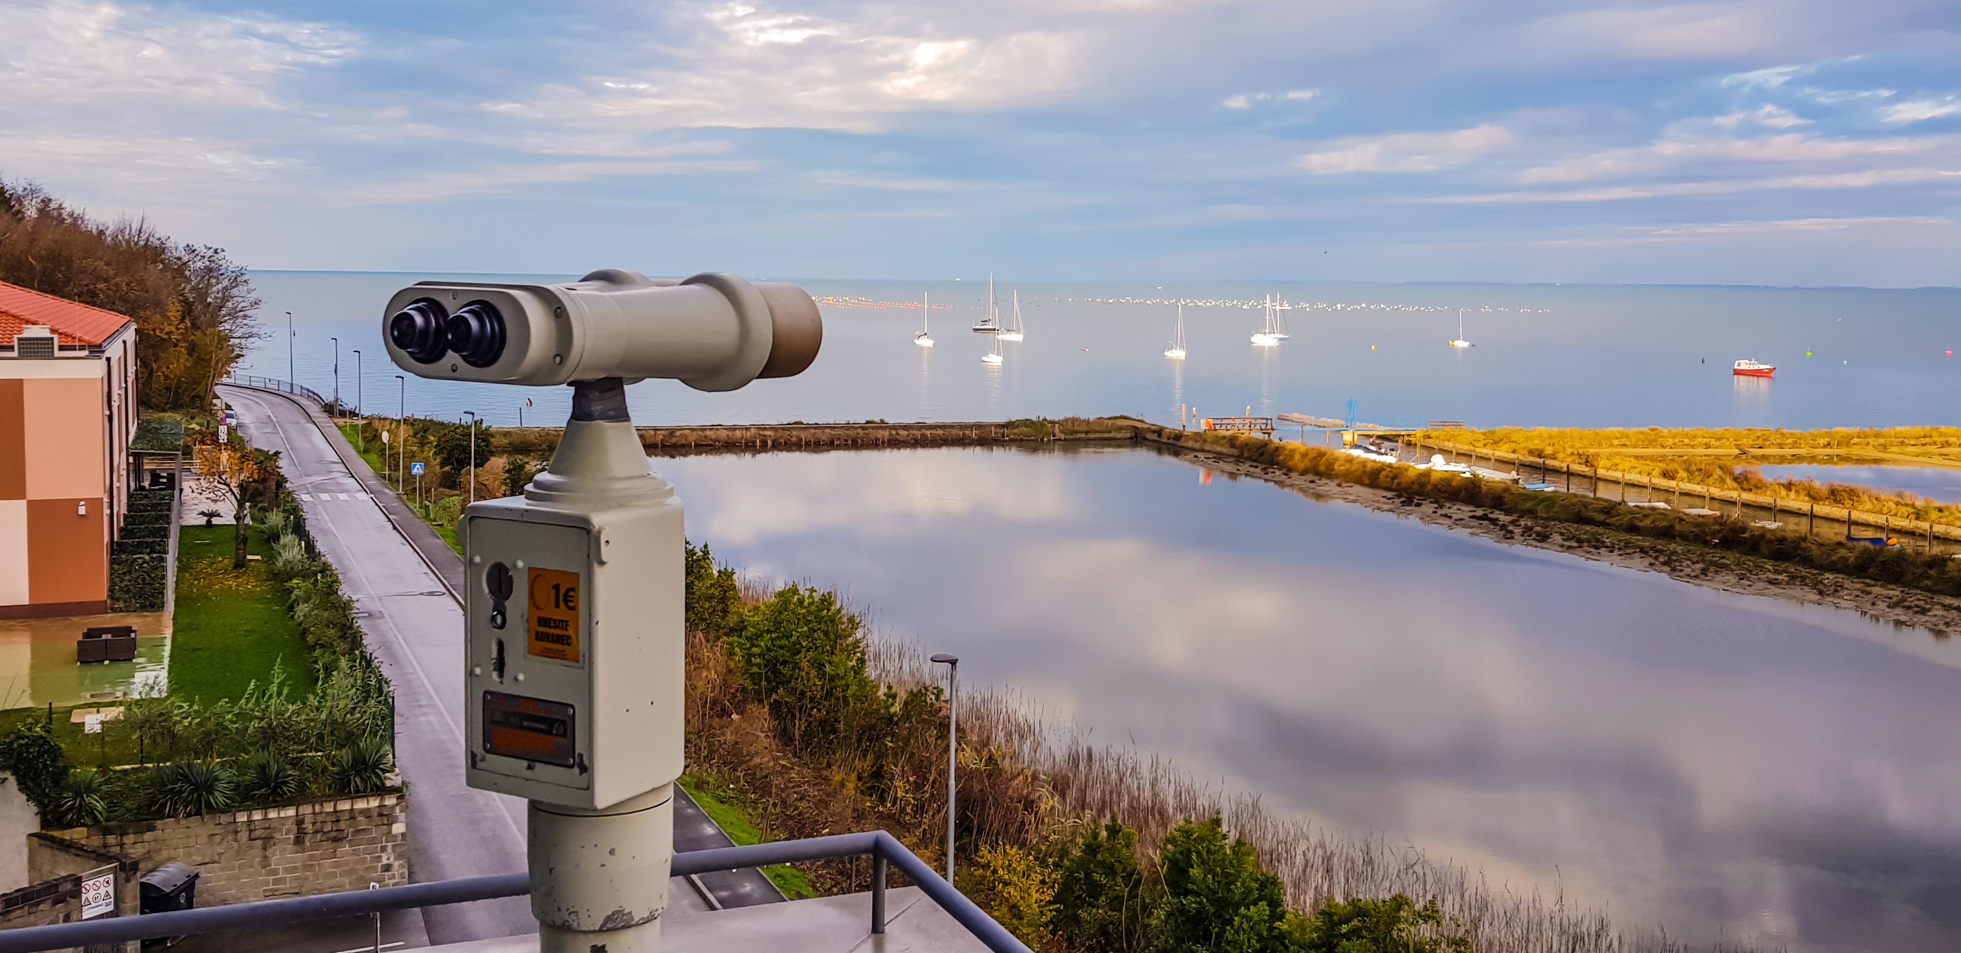
[[1137, 449], [659, 459], [688, 535], [1092, 737], [1671, 935], [1961, 949], [1961, 647]]

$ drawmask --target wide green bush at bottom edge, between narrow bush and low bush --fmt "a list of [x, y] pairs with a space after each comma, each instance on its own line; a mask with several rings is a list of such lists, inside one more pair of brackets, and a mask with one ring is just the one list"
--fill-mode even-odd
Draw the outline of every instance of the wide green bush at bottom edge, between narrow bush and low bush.
[[1163, 953], [1286, 953], [1286, 892], [1259, 869], [1251, 843], [1218, 818], [1184, 822], [1159, 851], [1163, 898], [1151, 918], [1151, 949]]

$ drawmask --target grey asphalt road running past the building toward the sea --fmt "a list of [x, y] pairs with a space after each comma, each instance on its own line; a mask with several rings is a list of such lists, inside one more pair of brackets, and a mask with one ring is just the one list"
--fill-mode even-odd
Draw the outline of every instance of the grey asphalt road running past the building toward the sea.
[[[414, 880], [524, 871], [524, 802], [463, 782], [463, 610], [453, 596], [463, 586], [463, 559], [316, 410], [251, 388], [222, 386], [220, 394], [239, 410], [247, 441], [280, 451], [280, 467], [300, 496], [322, 555], [341, 573], [347, 596], [363, 614], [369, 647], [394, 682]], [[684, 792], [675, 798], [675, 849], [728, 843], [692, 798]], [[669, 886], [669, 910], [780, 900], [775, 884], [755, 869], [675, 878]], [[424, 926], [431, 943], [537, 929], [524, 898], [424, 910]]]

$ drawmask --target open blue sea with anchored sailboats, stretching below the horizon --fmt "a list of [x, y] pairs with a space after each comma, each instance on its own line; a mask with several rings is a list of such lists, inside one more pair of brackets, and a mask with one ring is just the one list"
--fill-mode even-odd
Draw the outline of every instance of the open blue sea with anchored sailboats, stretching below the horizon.
[[[529, 424], [563, 422], [565, 388], [408, 378], [398, 390], [380, 341], [380, 308], [406, 284], [441, 275], [253, 273], [271, 335], [245, 371], [286, 376], [286, 316], [302, 384], [333, 388], [367, 410], [457, 418], [475, 410], [504, 426], [531, 398]], [[469, 280], [571, 276], [471, 275]], [[839, 420], [1010, 420], [1133, 414], [1175, 422], [1188, 404], [1208, 416], [1345, 416], [1473, 426], [1779, 426], [1869, 427], [1951, 424], [1961, 392], [1961, 290], [1657, 288], [1508, 284], [1094, 284], [1000, 280], [1022, 292], [1028, 341], [1006, 363], [980, 365], [990, 337], [980, 316], [986, 280], [806, 280], [818, 296], [918, 302], [931, 292], [939, 347], [912, 347], [918, 308], [824, 308], [824, 353], [788, 380], [702, 394], [673, 380], [629, 390], [641, 424], [767, 424]], [[1253, 347], [1257, 308], [1188, 306], [1190, 359], [1165, 361], [1169, 298], [1253, 300], [1281, 294], [1320, 308], [1290, 312], [1294, 337]], [[1102, 298], [1102, 300], [1092, 300]], [[1147, 302], [1108, 302], [1141, 298]], [[1455, 308], [1471, 308], [1453, 351]], [[1488, 310], [1486, 310], [1488, 308]], [[357, 386], [353, 349], [363, 349]], [[1812, 357], [1806, 357], [1806, 351]], [[1775, 380], [1734, 378], [1749, 357], [1779, 365]]]

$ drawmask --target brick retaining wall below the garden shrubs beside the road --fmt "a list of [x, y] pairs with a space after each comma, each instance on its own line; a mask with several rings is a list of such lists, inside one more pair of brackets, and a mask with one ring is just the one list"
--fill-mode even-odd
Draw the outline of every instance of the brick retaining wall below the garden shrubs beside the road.
[[[408, 882], [408, 802], [402, 794], [337, 798], [141, 824], [49, 831], [153, 871], [176, 861], [198, 871], [198, 906], [275, 896], [365, 890]], [[29, 875], [37, 875], [27, 845]]]

